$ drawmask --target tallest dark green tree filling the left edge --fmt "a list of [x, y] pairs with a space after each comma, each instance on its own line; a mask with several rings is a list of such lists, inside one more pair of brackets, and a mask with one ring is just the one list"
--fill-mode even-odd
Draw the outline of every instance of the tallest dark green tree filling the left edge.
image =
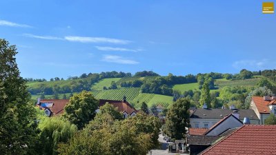
[[36, 112], [21, 78], [17, 48], [0, 39], [0, 154], [35, 154]]

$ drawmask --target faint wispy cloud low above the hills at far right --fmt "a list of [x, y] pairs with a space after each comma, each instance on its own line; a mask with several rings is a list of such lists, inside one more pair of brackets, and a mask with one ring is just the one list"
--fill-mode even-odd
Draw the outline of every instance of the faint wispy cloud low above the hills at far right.
[[260, 60], [240, 60], [233, 63], [233, 67], [236, 69], [250, 68], [255, 70], [262, 70], [265, 68], [276, 68], [276, 62], [270, 59]]

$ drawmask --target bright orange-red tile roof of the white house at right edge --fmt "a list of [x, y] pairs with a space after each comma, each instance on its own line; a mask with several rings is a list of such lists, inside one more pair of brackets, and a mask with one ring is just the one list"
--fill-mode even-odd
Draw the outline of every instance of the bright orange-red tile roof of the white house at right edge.
[[273, 102], [273, 103], [275, 102], [275, 100], [265, 101], [264, 97], [261, 97], [261, 96], [253, 96], [252, 100], [255, 103], [258, 112], [261, 114], [270, 114], [270, 109], [269, 109], [268, 105], [271, 102]]

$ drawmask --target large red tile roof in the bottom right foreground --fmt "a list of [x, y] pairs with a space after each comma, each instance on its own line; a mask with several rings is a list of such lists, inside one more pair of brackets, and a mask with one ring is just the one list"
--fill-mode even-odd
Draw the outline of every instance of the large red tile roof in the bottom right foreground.
[[276, 154], [276, 125], [244, 125], [201, 154]]

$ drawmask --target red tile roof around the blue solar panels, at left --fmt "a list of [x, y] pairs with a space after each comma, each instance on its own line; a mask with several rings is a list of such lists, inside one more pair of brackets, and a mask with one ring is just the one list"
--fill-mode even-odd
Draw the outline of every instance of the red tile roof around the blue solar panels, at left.
[[48, 107], [53, 115], [57, 114], [63, 114], [64, 110], [63, 108], [67, 103], [69, 103], [69, 100], [60, 100], [60, 99], [43, 99], [40, 100], [40, 103], [54, 103], [52, 107]]

